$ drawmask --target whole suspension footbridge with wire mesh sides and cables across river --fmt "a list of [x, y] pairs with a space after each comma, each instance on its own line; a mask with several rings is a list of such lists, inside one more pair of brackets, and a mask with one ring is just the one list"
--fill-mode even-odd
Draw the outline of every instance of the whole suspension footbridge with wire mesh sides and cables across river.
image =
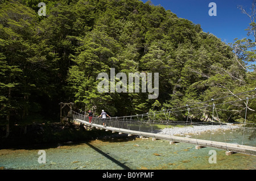
[[[108, 119], [95, 116], [91, 123], [86, 116], [86, 112], [72, 111], [72, 116], [74, 121], [113, 133], [150, 137], [152, 140], [168, 140], [170, 144], [184, 142], [196, 145], [196, 149], [216, 148], [226, 150], [226, 155], [233, 153], [256, 155], [255, 123], [250, 123], [250, 120], [247, 120], [246, 117], [249, 111], [255, 115], [255, 110], [249, 107], [249, 101], [255, 103], [255, 92], [256, 88], [205, 102], [141, 115], [110, 117]], [[241, 108], [243, 104], [244, 106]], [[233, 106], [237, 110], [224, 110], [225, 107], [228, 107], [227, 105]], [[240, 107], [240, 110], [238, 110], [238, 107]], [[219, 116], [223, 111], [230, 111], [232, 112], [230, 114], [233, 115], [244, 112], [244, 121], [242, 123], [227, 123], [226, 120], [223, 120], [224, 118]], [[196, 115], [202, 112], [205, 114], [206, 120], [192, 121], [195, 120]], [[183, 119], [183, 121], [177, 119]], [[165, 128], [163, 129], [163, 127]], [[202, 127], [207, 128], [207, 131], [200, 132]], [[220, 134], [217, 136], [216, 128], [222, 136]], [[181, 132], [175, 133], [177, 129], [181, 129]], [[210, 134], [208, 139], [203, 136], [206, 133]]]

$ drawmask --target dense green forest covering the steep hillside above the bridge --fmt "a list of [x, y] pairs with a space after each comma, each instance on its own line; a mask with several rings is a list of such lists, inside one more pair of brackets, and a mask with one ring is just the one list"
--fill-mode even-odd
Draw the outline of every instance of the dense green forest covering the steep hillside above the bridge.
[[[180, 107], [254, 90], [255, 41], [225, 44], [200, 24], [138, 0], [0, 0], [0, 124], [59, 121], [60, 102], [110, 116]], [[242, 13], [241, 13], [242, 15]], [[250, 33], [255, 23], [248, 25]], [[247, 27], [245, 27], [247, 28]], [[97, 91], [99, 73], [159, 73], [159, 96]], [[255, 95], [255, 92], [251, 94]], [[229, 100], [244, 99], [246, 95]], [[249, 121], [256, 100], [249, 100]], [[243, 121], [244, 102], [223, 105]], [[203, 117], [203, 113], [198, 115]], [[6, 126], [7, 125], [7, 126]], [[9, 128], [7, 128], [9, 129]], [[5, 136], [1, 134], [1, 136]]]

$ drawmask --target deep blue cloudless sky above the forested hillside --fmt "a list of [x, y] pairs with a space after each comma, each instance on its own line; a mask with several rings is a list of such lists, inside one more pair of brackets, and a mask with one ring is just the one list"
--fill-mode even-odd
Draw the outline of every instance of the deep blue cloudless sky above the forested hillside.
[[[147, 0], [143, 0], [147, 2]], [[204, 32], [212, 33], [226, 43], [232, 43], [235, 38], [247, 37], [245, 29], [250, 18], [243, 14], [237, 5], [242, 5], [250, 11], [253, 0], [151, 0], [152, 4], [171, 10], [179, 18], [191, 20], [200, 24]], [[217, 16], [209, 16], [210, 2], [217, 5]]]

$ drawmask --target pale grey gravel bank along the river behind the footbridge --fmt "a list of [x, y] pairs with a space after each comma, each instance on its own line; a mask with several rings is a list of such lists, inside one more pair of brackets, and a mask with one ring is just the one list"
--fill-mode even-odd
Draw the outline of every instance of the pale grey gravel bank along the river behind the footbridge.
[[164, 128], [158, 134], [171, 134], [174, 136], [184, 136], [190, 134], [201, 134], [203, 132], [214, 132], [220, 130], [231, 130], [240, 128], [237, 125], [227, 124], [227, 125], [194, 125], [193, 127], [175, 127], [175, 128]]

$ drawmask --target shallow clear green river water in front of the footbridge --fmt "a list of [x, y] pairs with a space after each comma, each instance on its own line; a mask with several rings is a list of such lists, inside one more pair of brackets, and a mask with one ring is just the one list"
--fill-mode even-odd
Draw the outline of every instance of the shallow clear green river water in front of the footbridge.
[[[43, 146], [43, 145], [42, 145]], [[38, 163], [39, 150], [46, 151], [46, 163]], [[210, 150], [216, 150], [217, 163], [209, 163]], [[5, 169], [256, 169], [256, 157], [225, 155], [224, 150], [203, 148], [151, 138], [109, 138], [39, 149], [2, 149], [0, 167]]]

